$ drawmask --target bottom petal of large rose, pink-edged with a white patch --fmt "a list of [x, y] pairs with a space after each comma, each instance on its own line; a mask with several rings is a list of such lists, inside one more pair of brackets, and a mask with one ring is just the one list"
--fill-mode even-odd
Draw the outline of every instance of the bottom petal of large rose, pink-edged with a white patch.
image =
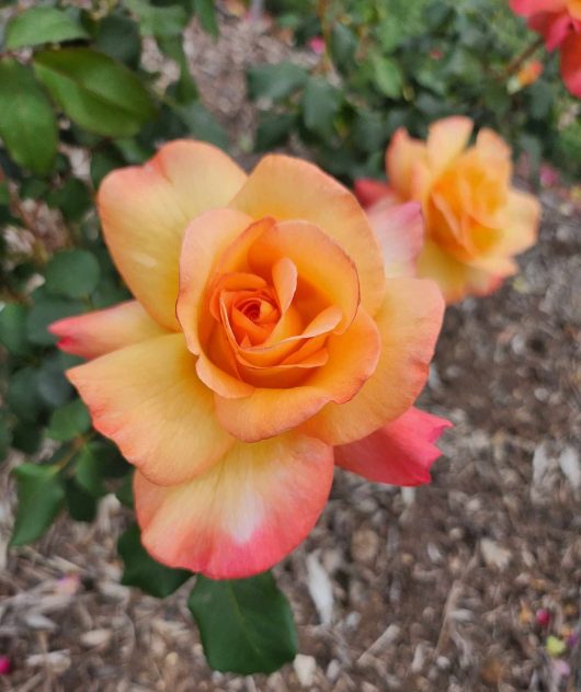
[[214, 579], [269, 569], [309, 533], [329, 496], [331, 447], [298, 435], [236, 444], [181, 486], [135, 477], [146, 548], [159, 561]]

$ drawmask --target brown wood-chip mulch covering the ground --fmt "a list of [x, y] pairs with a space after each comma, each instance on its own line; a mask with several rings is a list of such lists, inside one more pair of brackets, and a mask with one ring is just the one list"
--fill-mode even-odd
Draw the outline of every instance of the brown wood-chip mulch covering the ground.
[[[196, 76], [236, 137], [253, 122], [244, 64], [286, 52], [248, 26], [227, 25], [217, 45], [194, 30]], [[126, 517], [112, 498], [95, 525], [60, 521], [4, 557], [4, 468], [0, 654], [15, 670], [0, 690], [581, 689], [581, 225], [568, 204], [543, 201], [522, 274], [448, 310], [421, 401], [456, 426], [433, 484], [401, 491], [338, 473], [318, 526], [276, 568], [298, 623], [295, 666], [269, 678], [212, 673], [189, 586], [163, 602], [118, 586]]]

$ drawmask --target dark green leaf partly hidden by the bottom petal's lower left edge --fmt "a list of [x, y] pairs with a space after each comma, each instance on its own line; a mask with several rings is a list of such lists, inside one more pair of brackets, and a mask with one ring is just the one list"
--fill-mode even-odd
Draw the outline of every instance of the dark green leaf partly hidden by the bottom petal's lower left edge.
[[158, 599], [164, 599], [182, 586], [192, 572], [160, 565], [141, 545], [139, 526], [133, 524], [119, 536], [117, 551], [124, 563], [122, 583], [138, 587]]

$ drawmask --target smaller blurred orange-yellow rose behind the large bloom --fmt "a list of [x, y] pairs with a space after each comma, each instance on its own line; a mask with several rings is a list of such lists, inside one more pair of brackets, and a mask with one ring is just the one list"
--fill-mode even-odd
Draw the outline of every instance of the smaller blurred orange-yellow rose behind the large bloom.
[[448, 303], [486, 295], [514, 274], [512, 256], [534, 245], [540, 215], [533, 195], [511, 186], [506, 144], [485, 128], [468, 147], [472, 127], [468, 117], [447, 117], [431, 125], [425, 143], [400, 128], [386, 154], [389, 184], [355, 183], [379, 234], [394, 204], [421, 203], [425, 238], [417, 274], [434, 279]]

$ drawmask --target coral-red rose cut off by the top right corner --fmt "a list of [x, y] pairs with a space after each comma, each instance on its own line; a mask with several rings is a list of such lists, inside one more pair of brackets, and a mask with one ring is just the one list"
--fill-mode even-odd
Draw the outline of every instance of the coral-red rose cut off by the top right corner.
[[581, 0], [511, 0], [511, 10], [527, 19], [547, 50], [559, 49], [562, 81], [581, 98]]

